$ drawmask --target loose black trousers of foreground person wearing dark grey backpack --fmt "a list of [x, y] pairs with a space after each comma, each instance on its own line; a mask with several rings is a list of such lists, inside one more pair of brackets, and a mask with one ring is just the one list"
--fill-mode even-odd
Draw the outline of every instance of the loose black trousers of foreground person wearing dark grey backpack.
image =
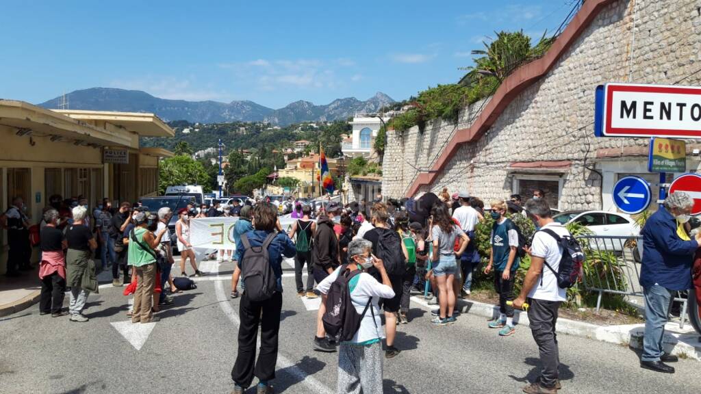
[[[262, 381], [275, 379], [275, 363], [278, 362], [278, 332], [280, 311], [283, 309], [283, 293], [275, 292], [271, 299], [254, 302], [244, 290], [238, 308], [241, 319], [238, 326], [238, 354], [231, 369], [234, 383], [247, 388], [255, 375]], [[256, 361], [256, 338], [261, 326], [261, 346]], [[255, 362], [254, 362], [255, 361]]]

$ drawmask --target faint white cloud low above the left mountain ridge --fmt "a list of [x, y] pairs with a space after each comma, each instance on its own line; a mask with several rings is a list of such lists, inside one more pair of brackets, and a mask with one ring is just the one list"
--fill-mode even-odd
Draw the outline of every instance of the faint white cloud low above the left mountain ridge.
[[144, 76], [137, 79], [115, 79], [108, 85], [112, 88], [143, 90], [150, 95], [170, 100], [231, 100], [231, 93], [210, 86], [195, 87], [192, 79], [172, 76]]

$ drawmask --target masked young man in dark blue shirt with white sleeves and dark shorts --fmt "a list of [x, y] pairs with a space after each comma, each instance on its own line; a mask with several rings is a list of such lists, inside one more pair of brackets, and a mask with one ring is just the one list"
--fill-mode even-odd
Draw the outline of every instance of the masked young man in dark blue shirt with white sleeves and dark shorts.
[[489, 322], [489, 328], [500, 328], [499, 335], [508, 337], [514, 334], [514, 308], [507, 301], [514, 299], [514, 277], [519, 268], [519, 234], [515, 224], [505, 217], [506, 203], [501, 200], [491, 202], [491, 218], [494, 227], [491, 230], [491, 251], [489, 264], [484, 273], [490, 273], [494, 267], [494, 289], [499, 294], [499, 317]]

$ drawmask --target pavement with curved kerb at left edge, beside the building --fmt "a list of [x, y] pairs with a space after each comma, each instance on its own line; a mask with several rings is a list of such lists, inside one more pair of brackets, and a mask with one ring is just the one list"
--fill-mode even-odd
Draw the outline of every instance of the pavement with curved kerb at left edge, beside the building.
[[22, 276], [0, 276], [0, 317], [11, 315], [39, 302], [39, 269], [21, 271]]

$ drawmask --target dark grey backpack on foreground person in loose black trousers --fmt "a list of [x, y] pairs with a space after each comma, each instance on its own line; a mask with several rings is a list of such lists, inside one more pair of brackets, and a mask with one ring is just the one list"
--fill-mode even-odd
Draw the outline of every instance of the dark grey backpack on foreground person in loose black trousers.
[[268, 246], [277, 233], [270, 233], [261, 246], [251, 246], [246, 234], [241, 236], [244, 254], [241, 260], [241, 277], [245, 284], [244, 294], [254, 302], [266, 301], [278, 290], [278, 281], [268, 259]]

